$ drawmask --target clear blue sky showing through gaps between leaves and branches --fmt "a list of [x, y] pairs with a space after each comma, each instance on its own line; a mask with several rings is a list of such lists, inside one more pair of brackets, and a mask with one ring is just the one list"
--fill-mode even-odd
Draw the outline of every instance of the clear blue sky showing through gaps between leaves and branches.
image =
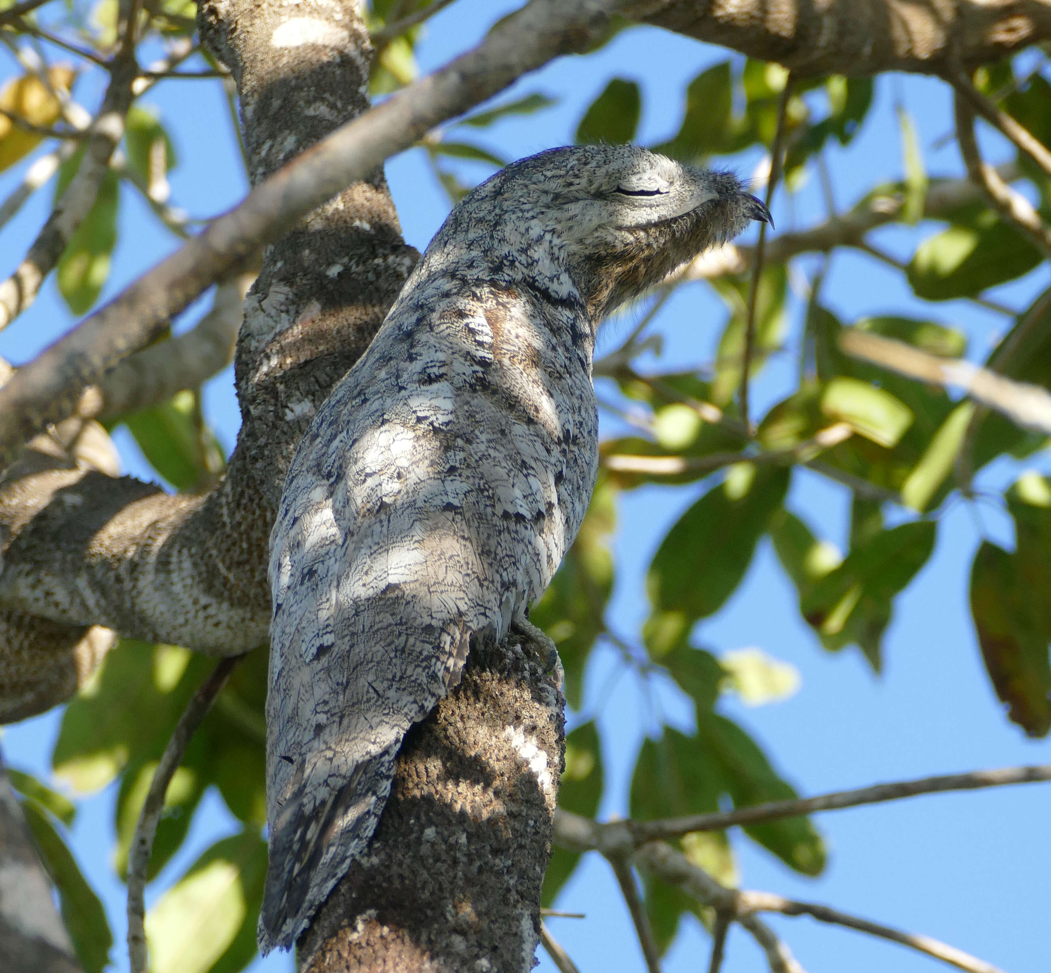
[[[432, 69], [466, 49], [513, 3], [460, 0], [438, 15], [418, 46], [420, 66]], [[563, 58], [518, 82], [507, 97], [534, 90], [559, 99], [537, 116], [511, 119], [486, 130], [480, 141], [507, 158], [530, 155], [571, 141], [579, 118], [611, 77], [637, 80], [643, 93], [639, 140], [653, 143], [678, 128], [681, 92], [701, 69], [723, 60], [726, 52], [655, 28], [621, 34], [606, 48], [586, 58]], [[0, 76], [14, 70], [0, 49]], [[78, 97], [90, 101], [92, 84], [85, 78]], [[182, 86], [180, 86], [182, 85]], [[144, 99], [159, 107], [180, 156], [171, 175], [172, 200], [194, 216], [210, 216], [244, 194], [245, 184], [218, 82], [163, 82]], [[901, 146], [893, 113], [903, 101], [913, 115], [921, 145], [932, 175], [960, 176], [963, 167], [954, 144], [935, 147], [950, 128], [950, 97], [931, 79], [886, 76], [879, 79], [877, 102], [866, 124], [847, 149], [832, 147], [829, 165], [837, 204], [850, 205], [872, 184], [901, 177]], [[1003, 144], [985, 143], [990, 158], [1006, 158]], [[747, 175], [759, 161], [751, 155], [735, 160]], [[0, 197], [13, 187], [21, 168], [0, 177]], [[480, 178], [482, 167], [467, 167]], [[423, 249], [448, 211], [448, 201], [431, 175], [421, 150], [388, 163], [388, 178], [408, 241]], [[26, 241], [40, 225], [51, 199], [45, 189], [0, 236], [0, 271], [16, 265]], [[824, 218], [816, 181], [797, 194], [791, 206], [783, 195], [775, 200], [779, 229], [802, 227]], [[933, 224], [893, 227], [873, 235], [884, 248], [907, 259], [915, 243], [935, 230]], [[149, 215], [133, 194], [125, 192], [120, 241], [114, 272], [103, 297], [116, 293], [135, 276], [174, 246], [173, 238]], [[809, 273], [813, 263], [800, 261]], [[1022, 281], [1000, 288], [996, 300], [1014, 308], [1026, 306], [1051, 275], [1038, 268]], [[952, 324], [970, 339], [969, 354], [984, 358], [1009, 319], [965, 302], [925, 304], [913, 298], [900, 273], [859, 254], [839, 254], [825, 285], [825, 302], [842, 320], [861, 316], [902, 313]], [[789, 347], [798, 340], [800, 300], [792, 300]], [[187, 323], [192, 321], [187, 316]], [[664, 336], [660, 367], [698, 365], [713, 358], [725, 320], [725, 309], [702, 284], [682, 288], [663, 310]], [[25, 361], [74, 319], [49, 281], [34, 307], [0, 335], [0, 354]], [[614, 347], [625, 331], [611, 325], [603, 339]], [[647, 366], [658, 363], [650, 361]], [[766, 369], [754, 393], [763, 409], [794, 384], [795, 362], [782, 356]], [[227, 448], [238, 428], [230, 370], [213, 379], [206, 391], [206, 411]], [[606, 434], [620, 430], [605, 423]], [[119, 445], [128, 472], [147, 475], [141, 457], [126, 435]], [[1051, 470], [1046, 454], [1024, 464]], [[1001, 463], [983, 474], [983, 483], [1001, 487], [1023, 468]], [[612, 625], [634, 636], [645, 617], [642, 577], [664, 531], [702, 491], [701, 485], [667, 489], [647, 487], [621, 498], [615, 539], [618, 580], [610, 609]], [[789, 506], [822, 536], [846, 546], [849, 516], [846, 491], [808, 471], [797, 471]], [[898, 514], [903, 515], [903, 514]], [[723, 710], [761, 741], [777, 766], [801, 793], [812, 794], [866, 784], [947, 773], [974, 768], [1051, 761], [1046, 741], [1032, 742], [1010, 725], [995, 700], [982, 667], [967, 607], [967, 579], [982, 534], [1013, 543], [1013, 527], [994, 506], [972, 509], [957, 504], [942, 519], [935, 553], [895, 603], [894, 621], [885, 637], [885, 668], [871, 674], [860, 653], [824, 652], [799, 617], [795, 591], [767, 543], [760, 546], [745, 582], [710, 620], [700, 626], [698, 644], [722, 652], [759, 646], [791, 663], [802, 675], [791, 698], [747, 708], [733, 697]], [[717, 556], [717, 553], [714, 553]], [[584, 710], [598, 713], [606, 766], [606, 793], [601, 815], [625, 814], [627, 784], [635, 754], [647, 731], [655, 728], [650, 697], [631, 676], [613, 684], [609, 675], [616, 653], [600, 647], [592, 658], [585, 684]], [[605, 698], [599, 696], [607, 691]], [[665, 718], [683, 729], [691, 709], [669, 684], [659, 685], [655, 698]], [[59, 714], [51, 712], [9, 728], [3, 737], [5, 757], [43, 776], [48, 773], [50, 747]], [[118, 946], [116, 969], [126, 970], [123, 953], [123, 886], [108, 866], [112, 845], [116, 788], [83, 802], [74, 830], [74, 849], [106, 901]], [[922, 797], [892, 806], [822, 815], [819, 827], [830, 848], [826, 873], [804, 879], [740, 836], [735, 837], [743, 884], [783, 895], [827, 903], [848, 912], [892, 926], [926, 933], [976, 954], [1011, 973], [1047, 968], [1045, 936], [1051, 907], [1051, 848], [1046, 840], [1051, 791], [1046, 787], [1002, 789], [975, 794]], [[166, 868], [161, 886], [174, 878], [217, 837], [234, 830], [220, 799], [209, 795], [179, 856]], [[153, 895], [156, 896], [156, 891]], [[644, 969], [634, 932], [609, 867], [586, 858], [563, 890], [559, 907], [586, 913], [586, 918], [552, 919], [556, 937], [582, 973]], [[809, 919], [770, 919], [810, 973], [877, 973], [888, 967], [901, 973], [933, 969], [932, 960], [857, 933], [823, 927]], [[708, 939], [686, 920], [669, 952], [667, 973], [686, 973], [706, 962]], [[553, 966], [541, 953], [544, 973]], [[764, 960], [746, 935], [730, 936], [723, 969], [746, 973], [764, 968]], [[291, 969], [288, 956], [260, 961], [253, 970], [277, 973]]]

